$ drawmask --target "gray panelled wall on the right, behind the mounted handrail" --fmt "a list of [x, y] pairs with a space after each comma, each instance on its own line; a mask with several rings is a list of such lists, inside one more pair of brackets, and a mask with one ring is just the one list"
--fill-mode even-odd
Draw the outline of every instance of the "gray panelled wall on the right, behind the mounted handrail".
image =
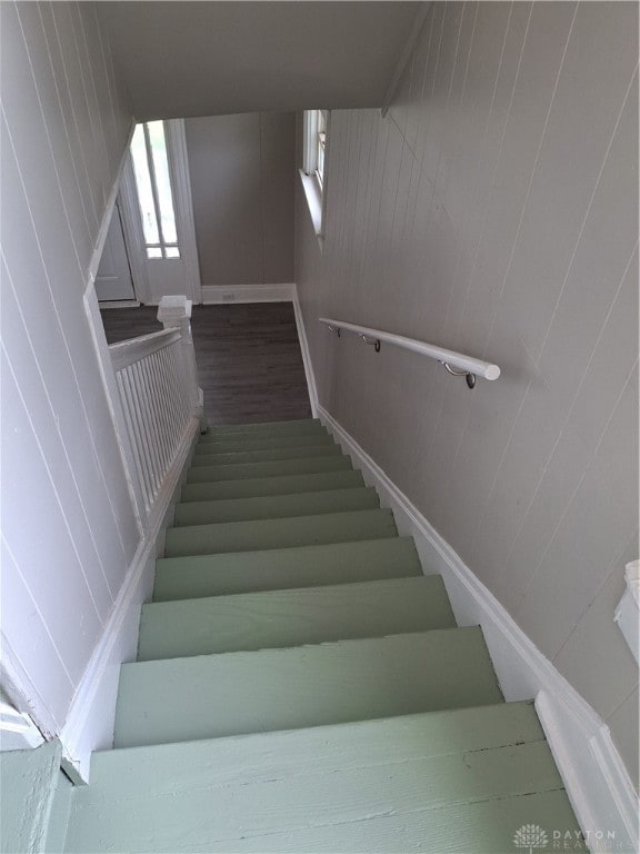
[[[320, 401], [611, 727], [638, 557], [638, 9], [434, 3], [387, 119], [331, 125], [321, 256], [297, 270]], [[486, 357], [469, 391], [342, 318]]]

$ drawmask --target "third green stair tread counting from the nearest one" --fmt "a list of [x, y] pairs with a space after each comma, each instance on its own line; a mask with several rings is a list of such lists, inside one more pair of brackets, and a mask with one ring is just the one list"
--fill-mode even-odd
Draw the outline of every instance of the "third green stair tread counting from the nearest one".
[[138, 661], [452, 628], [439, 575], [144, 605]]

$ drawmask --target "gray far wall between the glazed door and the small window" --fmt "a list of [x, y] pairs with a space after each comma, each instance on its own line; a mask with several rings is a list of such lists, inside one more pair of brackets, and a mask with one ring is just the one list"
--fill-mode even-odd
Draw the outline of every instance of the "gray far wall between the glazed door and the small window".
[[292, 281], [294, 113], [184, 127], [202, 285]]

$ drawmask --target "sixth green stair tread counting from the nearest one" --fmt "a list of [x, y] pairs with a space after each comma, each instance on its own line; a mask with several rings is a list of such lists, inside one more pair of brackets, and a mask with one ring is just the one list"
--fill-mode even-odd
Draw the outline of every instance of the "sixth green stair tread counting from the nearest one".
[[288, 516], [312, 516], [319, 513], [362, 510], [379, 506], [378, 494], [370, 486], [363, 486], [359, 489], [323, 489], [319, 493], [299, 493], [297, 495], [187, 502], [176, 505], [173, 525], [277, 519]]

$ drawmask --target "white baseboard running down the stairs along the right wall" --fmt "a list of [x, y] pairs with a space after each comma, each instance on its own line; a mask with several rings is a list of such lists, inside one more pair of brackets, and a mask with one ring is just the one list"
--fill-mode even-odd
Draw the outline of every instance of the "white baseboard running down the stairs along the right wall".
[[[609, 727], [356, 439], [322, 406], [318, 405], [317, 410], [362, 470], [367, 485], [376, 487], [382, 506], [393, 510], [399, 532], [413, 536], [424, 570], [442, 575], [458, 624], [482, 627], [504, 698], [536, 699], [540, 722], [591, 850], [639, 851], [637, 795]], [[597, 832], [604, 833], [603, 842], [597, 838]], [[614, 843], [608, 834], [614, 835]], [[614, 846], [604, 848], [604, 844]]]

